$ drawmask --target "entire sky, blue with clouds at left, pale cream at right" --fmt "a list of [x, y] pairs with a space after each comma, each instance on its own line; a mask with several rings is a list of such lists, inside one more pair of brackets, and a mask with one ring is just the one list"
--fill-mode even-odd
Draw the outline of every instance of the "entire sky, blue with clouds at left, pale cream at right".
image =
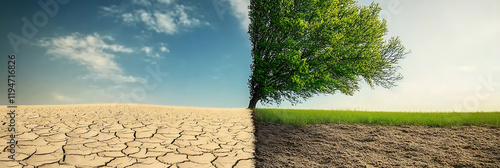
[[[16, 54], [18, 104], [248, 104], [249, 0], [40, 2], [0, 5], [1, 81], [6, 56]], [[319, 95], [280, 108], [500, 110], [500, 1], [376, 2], [387, 38], [399, 36], [411, 50], [399, 85], [364, 84], [354, 96]]]

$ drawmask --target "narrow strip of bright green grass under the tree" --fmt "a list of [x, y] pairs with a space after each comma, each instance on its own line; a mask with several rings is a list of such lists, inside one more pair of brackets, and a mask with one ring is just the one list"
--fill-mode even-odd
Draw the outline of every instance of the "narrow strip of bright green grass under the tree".
[[254, 112], [257, 120], [295, 126], [320, 123], [428, 125], [437, 127], [500, 125], [500, 112], [421, 113], [295, 109], [255, 109]]

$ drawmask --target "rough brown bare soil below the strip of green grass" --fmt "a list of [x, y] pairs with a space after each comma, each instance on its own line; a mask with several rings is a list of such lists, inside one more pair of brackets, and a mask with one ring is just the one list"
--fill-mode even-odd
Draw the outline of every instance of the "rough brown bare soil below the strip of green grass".
[[256, 122], [256, 167], [500, 167], [500, 128]]

